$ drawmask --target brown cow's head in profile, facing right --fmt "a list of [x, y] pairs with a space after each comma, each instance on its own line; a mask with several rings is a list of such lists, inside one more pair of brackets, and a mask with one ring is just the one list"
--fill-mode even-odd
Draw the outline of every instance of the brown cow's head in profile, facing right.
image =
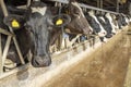
[[70, 0], [68, 10], [71, 16], [71, 22], [68, 25], [68, 28], [72, 33], [90, 34], [93, 32], [92, 28], [90, 28], [88, 22], [86, 21], [81, 7], [75, 0]]

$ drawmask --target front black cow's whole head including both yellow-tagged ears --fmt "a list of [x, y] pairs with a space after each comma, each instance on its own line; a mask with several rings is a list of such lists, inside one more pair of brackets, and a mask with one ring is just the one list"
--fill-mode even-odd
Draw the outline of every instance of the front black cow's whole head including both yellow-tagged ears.
[[[48, 66], [51, 63], [49, 54], [49, 30], [51, 27], [62, 27], [70, 22], [70, 16], [66, 14], [51, 16], [50, 10], [47, 9], [45, 3], [33, 1], [27, 12], [23, 13], [24, 15], [9, 15], [4, 18], [4, 23], [13, 29], [26, 28], [29, 32], [28, 36], [31, 37], [31, 41], [28, 40], [29, 45], [25, 45], [29, 46], [32, 50], [32, 65], [35, 67]], [[49, 22], [49, 18], [52, 22]], [[26, 36], [24, 37], [26, 38]]]

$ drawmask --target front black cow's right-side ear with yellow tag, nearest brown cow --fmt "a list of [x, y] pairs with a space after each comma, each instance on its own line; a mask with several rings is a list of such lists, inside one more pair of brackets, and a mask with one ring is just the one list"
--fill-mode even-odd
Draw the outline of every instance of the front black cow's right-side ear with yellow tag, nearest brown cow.
[[71, 22], [71, 17], [68, 14], [55, 15], [48, 21], [49, 25], [53, 27], [62, 27]]

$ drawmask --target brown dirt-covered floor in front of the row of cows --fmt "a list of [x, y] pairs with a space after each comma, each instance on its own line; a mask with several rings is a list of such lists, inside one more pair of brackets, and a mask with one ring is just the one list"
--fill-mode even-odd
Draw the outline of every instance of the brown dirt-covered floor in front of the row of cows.
[[43, 87], [124, 87], [130, 57], [131, 35], [123, 32]]

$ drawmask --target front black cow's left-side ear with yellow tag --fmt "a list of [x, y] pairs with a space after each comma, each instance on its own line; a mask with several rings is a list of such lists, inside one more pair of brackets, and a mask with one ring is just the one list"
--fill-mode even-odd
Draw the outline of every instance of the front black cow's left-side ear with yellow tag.
[[4, 17], [3, 22], [13, 29], [19, 29], [24, 26], [24, 18], [20, 15], [9, 15]]

